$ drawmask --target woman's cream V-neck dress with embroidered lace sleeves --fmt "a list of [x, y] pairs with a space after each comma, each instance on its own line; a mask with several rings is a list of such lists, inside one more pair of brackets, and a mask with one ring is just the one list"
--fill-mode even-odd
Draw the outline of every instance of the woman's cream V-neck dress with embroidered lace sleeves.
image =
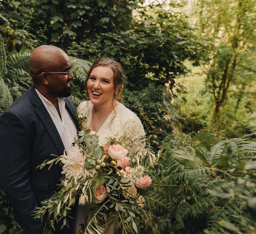
[[[81, 102], [77, 108], [78, 113], [85, 115], [87, 118], [87, 123], [85, 126], [86, 129], [88, 129], [91, 123], [92, 108], [93, 104], [91, 103], [91, 101]], [[130, 133], [131, 140], [135, 143], [135, 145], [133, 145], [133, 149], [137, 150], [145, 147], [145, 144], [136, 146], [136, 140], [134, 141], [136, 136], [139, 137], [145, 135], [145, 131], [140, 119], [130, 109], [126, 108], [122, 103], [120, 103], [107, 117], [107, 119], [97, 132], [97, 135], [99, 135], [99, 145], [105, 145], [105, 143], [107, 143], [108, 137], [114, 136], [116, 134], [123, 135], [124, 132]], [[74, 234], [78, 234], [78, 231], [80, 229], [79, 224], [84, 222], [84, 217], [84, 207], [79, 206], [76, 216], [76, 227]]]

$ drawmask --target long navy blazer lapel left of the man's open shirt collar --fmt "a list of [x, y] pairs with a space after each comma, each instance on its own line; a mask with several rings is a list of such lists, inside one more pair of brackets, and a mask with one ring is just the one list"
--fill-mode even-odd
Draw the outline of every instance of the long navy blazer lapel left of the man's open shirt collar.
[[41, 99], [39, 98], [34, 86], [31, 88], [30, 91], [31, 92], [29, 92], [29, 97], [31, 102], [35, 105], [35, 112], [38, 114], [39, 118], [44, 123], [44, 126], [48, 131], [54, 145], [58, 149], [60, 155], [63, 154], [64, 145], [60, 138], [59, 132], [52, 121], [50, 114], [48, 113]]

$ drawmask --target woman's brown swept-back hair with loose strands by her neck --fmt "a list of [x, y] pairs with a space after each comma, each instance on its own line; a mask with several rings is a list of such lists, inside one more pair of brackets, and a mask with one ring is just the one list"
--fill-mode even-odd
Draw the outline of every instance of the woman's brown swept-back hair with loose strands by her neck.
[[[124, 79], [125, 79], [125, 74], [122, 65], [110, 58], [99, 58], [97, 59], [93, 65], [90, 67], [85, 83], [86, 83], [86, 89], [87, 89], [87, 81], [91, 75], [91, 72], [93, 68], [102, 66], [102, 67], [110, 67], [114, 73], [114, 96], [113, 100], [116, 99], [117, 101], [121, 102], [123, 99], [123, 88], [124, 88]], [[88, 93], [88, 90], [87, 90]]]

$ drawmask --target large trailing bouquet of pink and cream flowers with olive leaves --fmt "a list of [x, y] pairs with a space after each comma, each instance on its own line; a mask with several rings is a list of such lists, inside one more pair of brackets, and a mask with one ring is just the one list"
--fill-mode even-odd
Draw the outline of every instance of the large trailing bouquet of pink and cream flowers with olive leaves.
[[[85, 119], [79, 121], [84, 123]], [[140, 195], [142, 189], [151, 185], [147, 171], [157, 161], [149, 149], [138, 147], [149, 138], [144, 136], [134, 143], [125, 133], [99, 146], [99, 136], [90, 129], [78, 135], [63, 155], [52, 155], [54, 159], [38, 166], [41, 169], [49, 165], [50, 169], [54, 163], [60, 163], [64, 176], [60, 190], [41, 202], [35, 218], [47, 215], [53, 229], [60, 220], [68, 226], [66, 218], [78, 201], [86, 210], [80, 233], [140, 233], [145, 225], [153, 228], [150, 214], [143, 209], [145, 199]]]

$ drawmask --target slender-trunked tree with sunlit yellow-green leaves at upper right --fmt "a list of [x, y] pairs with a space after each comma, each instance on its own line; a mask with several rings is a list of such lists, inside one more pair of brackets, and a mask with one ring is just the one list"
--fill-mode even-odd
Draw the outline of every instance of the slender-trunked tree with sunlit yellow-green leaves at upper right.
[[[197, 1], [196, 14], [201, 33], [211, 36], [212, 60], [209, 63], [207, 86], [215, 100], [214, 121], [220, 107], [238, 93], [237, 106], [255, 80], [256, 67], [245, 65], [255, 56], [255, 2], [249, 0], [209, 2]], [[195, 12], [193, 12], [195, 13]], [[229, 17], [226, 17], [229, 15]], [[251, 93], [249, 89], [249, 93]]]

